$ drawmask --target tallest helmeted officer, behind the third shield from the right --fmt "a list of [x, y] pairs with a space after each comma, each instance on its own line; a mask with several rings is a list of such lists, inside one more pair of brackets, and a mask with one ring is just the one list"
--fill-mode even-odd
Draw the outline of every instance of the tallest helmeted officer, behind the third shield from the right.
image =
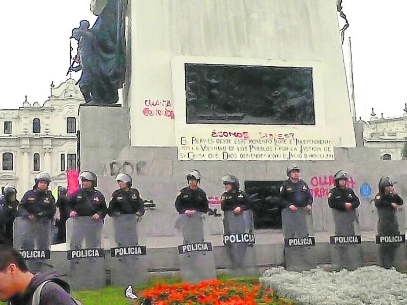
[[287, 166], [288, 179], [280, 187], [282, 207], [296, 211], [297, 207], [312, 209], [312, 195], [305, 181], [300, 179], [300, 168], [295, 164]]

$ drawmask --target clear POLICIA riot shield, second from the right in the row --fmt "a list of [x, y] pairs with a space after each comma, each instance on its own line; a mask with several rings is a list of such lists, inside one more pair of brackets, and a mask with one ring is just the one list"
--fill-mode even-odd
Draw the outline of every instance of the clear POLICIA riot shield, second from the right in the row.
[[351, 211], [331, 209], [335, 229], [330, 236], [332, 264], [336, 270], [354, 270], [362, 265], [362, 239], [359, 215]]

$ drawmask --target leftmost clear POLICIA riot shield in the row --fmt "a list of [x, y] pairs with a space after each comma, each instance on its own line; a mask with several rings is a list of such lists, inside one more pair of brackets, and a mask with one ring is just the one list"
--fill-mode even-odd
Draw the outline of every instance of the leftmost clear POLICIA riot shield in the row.
[[19, 250], [30, 271], [48, 272], [52, 269], [51, 229], [49, 219], [26, 219], [17, 217], [13, 223], [13, 247]]

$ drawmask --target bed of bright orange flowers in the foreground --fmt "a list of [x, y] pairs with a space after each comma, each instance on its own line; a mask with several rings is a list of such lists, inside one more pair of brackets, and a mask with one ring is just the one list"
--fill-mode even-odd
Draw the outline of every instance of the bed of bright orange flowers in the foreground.
[[262, 289], [260, 284], [239, 281], [208, 280], [198, 284], [180, 283], [176, 285], [156, 284], [139, 294], [138, 303], [155, 305], [254, 305], [254, 304], [293, 304], [279, 298], [272, 289]]

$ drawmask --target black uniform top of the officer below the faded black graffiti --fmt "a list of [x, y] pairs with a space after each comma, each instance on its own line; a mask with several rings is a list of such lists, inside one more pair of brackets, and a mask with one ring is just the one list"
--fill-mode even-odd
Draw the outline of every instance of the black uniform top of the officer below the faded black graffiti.
[[140, 198], [137, 189], [129, 188], [129, 191], [122, 189], [115, 190], [109, 202], [109, 216], [115, 214], [139, 214], [144, 215], [144, 202]]

